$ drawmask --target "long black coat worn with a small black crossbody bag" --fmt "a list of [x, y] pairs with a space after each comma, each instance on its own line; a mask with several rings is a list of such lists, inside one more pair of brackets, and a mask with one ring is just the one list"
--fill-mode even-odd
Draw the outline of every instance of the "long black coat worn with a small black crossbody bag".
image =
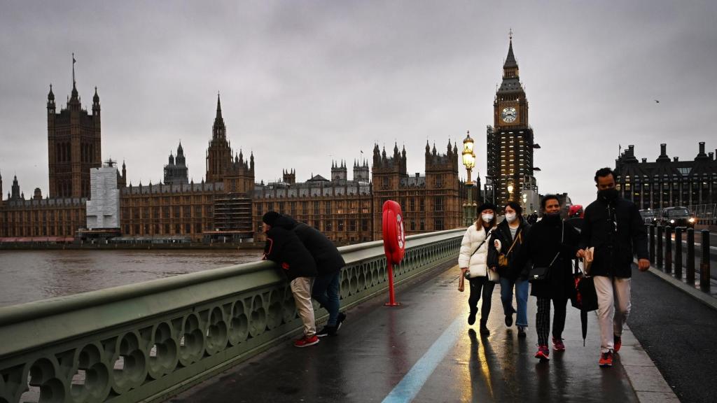
[[518, 254], [518, 265], [526, 267], [523, 275], [528, 275], [527, 262], [531, 266], [548, 266], [560, 252], [551, 266], [549, 279], [531, 283], [531, 295], [541, 298], [567, 299], [575, 293], [572, 260], [578, 250], [579, 234], [568, 222], [563, 227], [560, 219], [543, 219], [531, 227], [531, 231]]

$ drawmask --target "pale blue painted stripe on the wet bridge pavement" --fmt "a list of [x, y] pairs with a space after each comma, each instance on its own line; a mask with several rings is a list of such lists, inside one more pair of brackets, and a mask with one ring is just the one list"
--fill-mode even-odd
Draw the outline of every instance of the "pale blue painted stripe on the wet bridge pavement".
[[426, 354], [423, 354], [411, 370], [401, 379], [401, 381], [394, 387], [391, 393], [386, 396], [383, 403], [407, 403], [411, 402], [421, 391], [423, 385], [426, 383], [428, 378], [433, 374], [438, 364], [445, 358], [448, 351], [455, 346], [455, 341], [458, 338], [458, 331], [465, 323], [463, 316], [458, 318], [450, 324], [450, 326], [443, 331], [443, 334], [436, 340]]

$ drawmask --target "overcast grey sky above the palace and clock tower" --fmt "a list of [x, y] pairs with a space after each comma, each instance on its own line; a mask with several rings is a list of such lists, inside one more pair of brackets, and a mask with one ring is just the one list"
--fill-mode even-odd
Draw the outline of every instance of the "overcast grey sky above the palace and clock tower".
[[[654, 161], [717, 148], [716, 1], [6, 1], [0, 0], [0, 173], [47, 194], [46, 102], [72, 89], [102, 105], [103, 160], [133, 184], [162, 180], [181, 140], [205, 174], [217, 92], [234, 151], [256, 181], [332, 160], [445, 151], [470, 131], [485, 175], [485, 127], [508, 31], [541, 149], [541, 193], [594, 199], [618, 147]], [[660, 103], [656, 103], [659, 100]], [[465, 169], [460, 166], [465, 178]], [[475, 170], [473, 172], [475, 176]], [[351, 174], [349, 174], [351, 177]]]

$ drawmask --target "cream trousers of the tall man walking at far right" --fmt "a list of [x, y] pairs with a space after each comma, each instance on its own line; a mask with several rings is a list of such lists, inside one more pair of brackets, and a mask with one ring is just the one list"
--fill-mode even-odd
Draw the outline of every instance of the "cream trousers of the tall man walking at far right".
[[[622, 336], [622, 326], [630, 315], [630, 278], [593, 277], [597, 292], [597, 320], [600, 323], [600, 351], [614, 349], [614, 336]], [[615, 312], [617, 308], [617, 312]]]

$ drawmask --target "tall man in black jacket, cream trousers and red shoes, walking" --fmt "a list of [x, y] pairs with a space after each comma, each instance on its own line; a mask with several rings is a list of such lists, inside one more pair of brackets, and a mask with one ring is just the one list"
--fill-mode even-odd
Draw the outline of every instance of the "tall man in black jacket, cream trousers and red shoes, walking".
[[[632, 256], [637, 254], [640, 271], [650, 268], [647, 259], [647, 232], [640, 211], [632, 201], [622, 199], [615, 189], [612, 169], [595, 173], [597, 200], [587, 209], [581, 233], [581, 249], [594, 247], [590, 275], [597, 291], [600, 324], [600, 366], [612, 366], [612, 354], [622, 346], [622, 326], [630, 315]], [[617, 313], [615, 312], [617, 308]]]

